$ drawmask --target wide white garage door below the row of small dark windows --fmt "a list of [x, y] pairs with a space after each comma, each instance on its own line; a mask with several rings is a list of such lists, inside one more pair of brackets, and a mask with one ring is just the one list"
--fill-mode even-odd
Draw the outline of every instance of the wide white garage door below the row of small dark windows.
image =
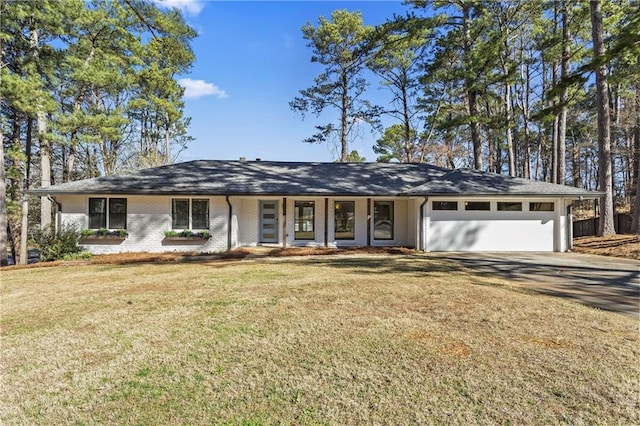
[[430, 251], [553, 251], [554, 212], [431, 212]]

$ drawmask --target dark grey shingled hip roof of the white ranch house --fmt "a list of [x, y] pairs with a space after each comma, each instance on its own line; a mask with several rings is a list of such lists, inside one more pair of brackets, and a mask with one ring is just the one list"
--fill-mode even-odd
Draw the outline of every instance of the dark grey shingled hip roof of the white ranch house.
[[198, 160], [29, 191], [146, 195], [553, 195], [595, 197], [563, 185], [429, 164]]

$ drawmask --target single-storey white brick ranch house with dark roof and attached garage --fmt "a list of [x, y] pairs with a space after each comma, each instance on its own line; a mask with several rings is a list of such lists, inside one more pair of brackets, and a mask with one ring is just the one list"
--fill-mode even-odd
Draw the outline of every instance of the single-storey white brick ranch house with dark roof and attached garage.
[[428, 164], [190, 161], [30, 191], [92, 253], [245, 246], [566, 251], [601, 194]]

